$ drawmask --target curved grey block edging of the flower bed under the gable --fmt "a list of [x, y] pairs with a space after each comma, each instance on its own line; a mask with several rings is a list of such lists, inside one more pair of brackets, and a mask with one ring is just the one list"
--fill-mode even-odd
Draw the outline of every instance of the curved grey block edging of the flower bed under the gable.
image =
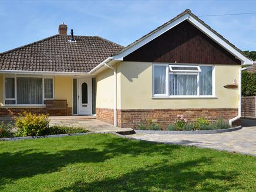
[[136, 133], [146, 133], [146, 134], [162, 134], [162, 135], [193, 135], [193, 134], [214, 134], [214, 133], [225, 133], [225, 132], [231, 132], [231, 131], [237, 131], [239, 129], [242, 129], [242, 126], [236, 126], [234, 128], [228, 128], [228, 129], [213, 129], [213, 130], [201, 130], [201, 131], [151, 131], [151, 130], [136, 130], [134, 129], [134, 132]]

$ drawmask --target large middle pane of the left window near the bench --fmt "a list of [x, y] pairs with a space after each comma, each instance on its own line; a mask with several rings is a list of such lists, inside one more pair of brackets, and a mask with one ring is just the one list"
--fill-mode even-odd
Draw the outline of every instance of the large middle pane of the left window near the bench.
[[17, 77], [17, 104], [42, 104], [42, 78]]

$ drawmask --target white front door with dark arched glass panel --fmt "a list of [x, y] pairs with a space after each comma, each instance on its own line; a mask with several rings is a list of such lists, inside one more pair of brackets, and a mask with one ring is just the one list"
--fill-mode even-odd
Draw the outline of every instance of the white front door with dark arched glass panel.
[[78, 79], [78, 114], [92, 114], [92, 79]]

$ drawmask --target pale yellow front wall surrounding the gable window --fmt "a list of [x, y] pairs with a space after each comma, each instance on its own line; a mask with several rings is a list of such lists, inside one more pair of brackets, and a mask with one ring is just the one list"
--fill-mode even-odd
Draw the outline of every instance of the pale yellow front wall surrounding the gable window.
[[241, 66], [215, 65], [216, 98], [152, 98], [152, 63], [122, 62], [119, 109], [237, 108], [238, 89], [224, 88], [238, 81]]

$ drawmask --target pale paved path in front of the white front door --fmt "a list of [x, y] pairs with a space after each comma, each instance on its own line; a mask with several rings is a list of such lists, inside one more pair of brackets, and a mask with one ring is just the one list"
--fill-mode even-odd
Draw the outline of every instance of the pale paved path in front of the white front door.
[[62, 125], [62, 126], [73, 126], [75, 128], [85, 128], [90, 132], [123, 132], [132, 131], [133, 129], [119, 128], [100, 121], [95, 118], [76, 118], [76, 119], [64, 119], [64, 118], [50, 118], [50, 125]]

